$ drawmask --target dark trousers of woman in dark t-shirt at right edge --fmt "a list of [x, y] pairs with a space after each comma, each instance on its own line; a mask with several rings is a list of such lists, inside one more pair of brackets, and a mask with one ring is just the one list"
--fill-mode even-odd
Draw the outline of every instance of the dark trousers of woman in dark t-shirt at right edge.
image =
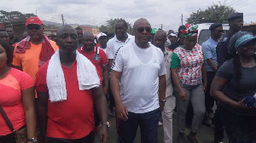
[[231, 143], [256, 143], [256, 116], [237, 115], [221, 105], [218, 109]]

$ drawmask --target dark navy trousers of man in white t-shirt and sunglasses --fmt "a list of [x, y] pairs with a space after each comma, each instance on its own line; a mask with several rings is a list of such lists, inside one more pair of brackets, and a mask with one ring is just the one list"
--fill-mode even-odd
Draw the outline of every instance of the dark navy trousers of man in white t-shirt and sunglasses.
[[127, 120], [119, 120], [119, 143], [133, 143], [138, 126], [142, 143], [157, 143], [160, 109], [145, 113], [128, 112]]

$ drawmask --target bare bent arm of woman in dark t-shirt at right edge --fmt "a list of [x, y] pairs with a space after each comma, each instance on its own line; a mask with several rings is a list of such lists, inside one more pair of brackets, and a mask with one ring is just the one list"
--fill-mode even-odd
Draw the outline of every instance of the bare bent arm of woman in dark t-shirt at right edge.
[[215, 99], [224, 103], [225, 105], [233, 106], [235, 108], [244, 108], [245, 105], [243, 104], [242, 100], [241, 101], [231, 100], [228, 96], [224, 94], [223, 89], [226, 83], [228, 83], [228, 79], [215, 76], [212, 81], [210, 94]]

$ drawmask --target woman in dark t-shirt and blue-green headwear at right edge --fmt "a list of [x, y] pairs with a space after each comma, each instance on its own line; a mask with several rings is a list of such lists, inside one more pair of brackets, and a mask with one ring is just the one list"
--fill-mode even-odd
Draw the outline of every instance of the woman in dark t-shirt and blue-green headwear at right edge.
[[[256, 37], [239, 31], [230, 38], [233, 59], [220, 66], [211, 94], [232, 143], [256, 142]], [[254, 95], [254, 97], [253, 97]]]

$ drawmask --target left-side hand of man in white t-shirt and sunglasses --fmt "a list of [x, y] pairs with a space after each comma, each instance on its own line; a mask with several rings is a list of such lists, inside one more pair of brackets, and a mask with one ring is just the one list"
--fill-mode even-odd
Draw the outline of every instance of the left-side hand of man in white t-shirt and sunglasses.
[[115, 104], [115, 113], [116, 113], [116, 116], [121, 120], [128, 119], [127, 107], [121, 101]]

